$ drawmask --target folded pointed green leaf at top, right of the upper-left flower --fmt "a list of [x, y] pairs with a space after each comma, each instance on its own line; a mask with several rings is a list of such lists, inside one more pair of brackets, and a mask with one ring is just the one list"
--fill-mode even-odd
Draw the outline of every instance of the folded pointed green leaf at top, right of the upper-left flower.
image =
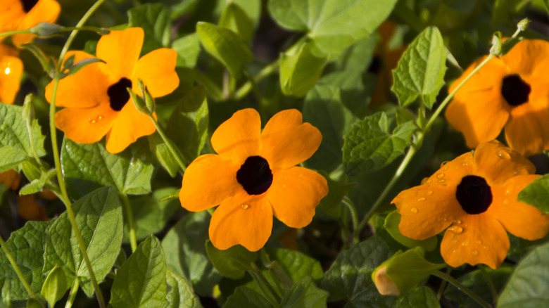
[[240, 76], [244, 63], [253, 61], [253, 54], [239, 34], [206, 22], [197, 23], [196, 32], [204, 49], [234, 77]]

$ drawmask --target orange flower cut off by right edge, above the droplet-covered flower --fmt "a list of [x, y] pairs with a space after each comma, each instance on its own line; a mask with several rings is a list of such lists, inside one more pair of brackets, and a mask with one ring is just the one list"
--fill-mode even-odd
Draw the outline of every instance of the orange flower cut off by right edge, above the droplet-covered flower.
[[[453, 91], [486, 57], [473, 63]], [[493, 58], [457, 91], [446, 118], [465, 135], [469, 148], [496, 139], [505, 127], [509, 146], [525, 156], [549, 149], [549, 42], [520, 41]]]

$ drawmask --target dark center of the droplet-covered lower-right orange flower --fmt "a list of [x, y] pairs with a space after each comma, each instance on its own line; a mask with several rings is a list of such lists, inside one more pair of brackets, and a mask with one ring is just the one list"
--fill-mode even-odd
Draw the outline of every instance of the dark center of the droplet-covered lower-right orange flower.
[[486, 180], [476, 175], [468, 175], [457, 185], [455, 197], [467, 214], [486, 212], [492, 204], [492, 190]]

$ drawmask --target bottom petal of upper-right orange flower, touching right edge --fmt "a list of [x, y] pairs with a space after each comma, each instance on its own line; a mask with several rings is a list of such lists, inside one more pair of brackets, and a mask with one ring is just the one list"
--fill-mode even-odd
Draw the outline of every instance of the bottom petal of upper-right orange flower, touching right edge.
[[527, 104], [513, 109], [505, 125], [505, 139], [510, 148], [526, 157], [549, 150], [548, 119], [547, 109], [534, 110]]

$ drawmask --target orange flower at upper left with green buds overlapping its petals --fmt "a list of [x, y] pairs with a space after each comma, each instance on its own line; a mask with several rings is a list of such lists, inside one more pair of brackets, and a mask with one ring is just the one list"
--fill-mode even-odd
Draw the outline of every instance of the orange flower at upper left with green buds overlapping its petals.
[[[97, 58], [106, 63], [92, 63], [75, 75], [61, 79], [56, 105], [66, 107], [56, 113], [56, 127], [68, 139], [94, 143], [107, 136], [106, 148], [119, 153], [141, 136], [156, 131], [147, 115], [139, 113], [126, 88], [140, 93], [138, 79], [153, 97], [170, 94], [179, 85], [175, 72], [177, 53], [157, 49], [139, 58], [144, 32], [139, 27], [111, 31], [97, 43]], [[83, 51], [70, 51], [75, 63], [94, 56]], [[46, 86], [46, 99], [51, 102], [53, 82]], [[156, 116], [156, 115], [155, 115]]]

